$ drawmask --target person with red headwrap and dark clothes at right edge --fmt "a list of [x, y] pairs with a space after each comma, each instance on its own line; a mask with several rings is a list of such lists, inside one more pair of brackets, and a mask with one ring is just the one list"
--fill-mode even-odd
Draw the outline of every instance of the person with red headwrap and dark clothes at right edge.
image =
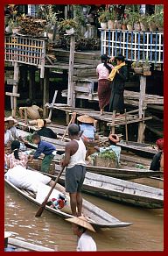
[[151, 161], [150, 170], [159, 171], [164, 168], [164, 139], [158, 139], [156, 142], [158, 153], [156, 153]]

